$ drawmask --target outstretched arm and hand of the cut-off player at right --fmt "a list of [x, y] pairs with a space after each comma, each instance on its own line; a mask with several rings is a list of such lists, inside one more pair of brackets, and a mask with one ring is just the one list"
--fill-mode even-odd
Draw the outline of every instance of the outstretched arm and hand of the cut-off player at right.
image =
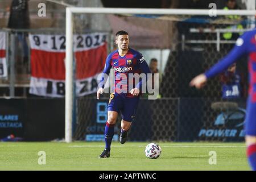
[[195, 86], [196, 88], [201, 88], [205, 85], [209, 78], [212, 78], [218, 73], [221, 73], [228, 69], [228, 67], [237, 61], [243, 54], [247, 52], [246, 46], [246, 36], [247, 34], [243, 34], [240, 38], [237, 39], [236, 46], [226, 55], [223, 59], [218, 61], [217, 64], [213, 65], [207, 72], [202, 73], [189, 83], [190, 86]]

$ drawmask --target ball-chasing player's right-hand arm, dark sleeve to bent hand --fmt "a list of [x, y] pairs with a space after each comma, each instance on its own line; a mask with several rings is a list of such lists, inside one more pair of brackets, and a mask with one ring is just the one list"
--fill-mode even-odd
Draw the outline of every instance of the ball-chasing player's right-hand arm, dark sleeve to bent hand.
[[148, 67], [147, 62], [144, 59], [144, 57], [142, 55], [139, 55], [138, 58], [139, 58], [138, 59], [139, 68], [146, 75], [146, 80], [142, 79], [141, 81], [138, 82], [138, 84], [135, 86], [134, 89], [131, 89], [131, 94], [133, 94], [133, 96], [138, 96], [139, 88], [142, 88], [142, 85], [146, 84], [146, 82], [147, 82], [147, 74], [151, 73], [150, 68]]

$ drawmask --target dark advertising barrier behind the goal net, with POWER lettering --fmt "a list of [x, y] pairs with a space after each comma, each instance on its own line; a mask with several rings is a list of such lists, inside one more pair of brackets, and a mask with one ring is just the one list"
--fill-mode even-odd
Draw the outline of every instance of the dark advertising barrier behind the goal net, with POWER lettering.
[[[141, 100], [129, 133], [130, 141], [242, 141], [245, 100], [238, 107], [213, 110], [218, 98], [176, 98]], [[104, 140], [108, 100], [79, 98], [75, 140]], [[224, 101], [225, 102], [225, 101]], [[84, 113], [84, 114], [81, 114]], [[115, 139], [120, 133], [121, 116], [115, 125]]]

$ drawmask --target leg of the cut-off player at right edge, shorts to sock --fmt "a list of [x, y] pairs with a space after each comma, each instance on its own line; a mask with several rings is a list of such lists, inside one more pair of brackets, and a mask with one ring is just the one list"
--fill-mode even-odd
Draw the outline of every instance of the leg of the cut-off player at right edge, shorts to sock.
[[245, 142], [246, 142], [246, 155], [251, 166], [251, 169], [256, 171], [256, 103], [249, 100], [247, 101], [247, 113], [245, 122]]

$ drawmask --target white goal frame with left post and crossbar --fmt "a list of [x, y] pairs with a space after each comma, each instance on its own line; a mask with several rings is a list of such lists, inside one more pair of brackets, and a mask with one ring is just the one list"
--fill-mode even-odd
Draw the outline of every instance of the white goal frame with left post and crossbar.
[[66, 8], [66, 59], [65, 59], [65, 142], [72, 142], [73, 108], [73, 14], [154, 14], [154, 15], [243, 15], [254, 19], [255, 10], [199, 10], [199, 9], [127, 9], [104, 7], [67, 7]]

